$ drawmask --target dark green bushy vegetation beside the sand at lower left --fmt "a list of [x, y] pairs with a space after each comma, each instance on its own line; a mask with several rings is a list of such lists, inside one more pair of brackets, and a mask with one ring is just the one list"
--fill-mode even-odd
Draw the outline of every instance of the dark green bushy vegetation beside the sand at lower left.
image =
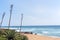
[[15, 30], [0, 30], [0, 40], [28, 40], [28, 38]]

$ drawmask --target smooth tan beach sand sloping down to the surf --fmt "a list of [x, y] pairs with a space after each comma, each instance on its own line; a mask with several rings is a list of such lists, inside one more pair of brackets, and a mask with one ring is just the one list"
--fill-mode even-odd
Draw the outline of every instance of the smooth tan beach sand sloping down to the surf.
[[28, 40], [60, 40], [60, 38], [40, 36], [40, 35], [34, 35], [34, 34], [24, 34], [24, 35], [28, 37]]

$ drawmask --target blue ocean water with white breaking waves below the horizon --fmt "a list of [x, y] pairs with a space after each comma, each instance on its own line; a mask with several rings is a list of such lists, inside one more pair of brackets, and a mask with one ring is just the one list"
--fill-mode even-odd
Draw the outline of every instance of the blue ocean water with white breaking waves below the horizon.
[[[19, 32], [20, 26], [10, 26], [10, 29], [15, 29]], [[2, 26], [2, 28], [8, 28], [8, 26]], [[38, 35], [44, 36], [53, 36], [53, 37], [60, 37], [60, 25], [48, 25], [48, 26], [22, 26], [22, 32], [33, 32], [37, 33]]]

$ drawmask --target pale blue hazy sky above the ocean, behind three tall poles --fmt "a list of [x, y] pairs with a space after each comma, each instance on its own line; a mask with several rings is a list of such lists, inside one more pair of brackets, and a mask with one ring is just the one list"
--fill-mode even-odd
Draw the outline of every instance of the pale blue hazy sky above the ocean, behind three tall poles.
[[0, 0], [0, 22], [5, 12], [2, 26], [8, 26], [10, 5], [13, 4], [11, 26], [60, 25], [60, 0]]

